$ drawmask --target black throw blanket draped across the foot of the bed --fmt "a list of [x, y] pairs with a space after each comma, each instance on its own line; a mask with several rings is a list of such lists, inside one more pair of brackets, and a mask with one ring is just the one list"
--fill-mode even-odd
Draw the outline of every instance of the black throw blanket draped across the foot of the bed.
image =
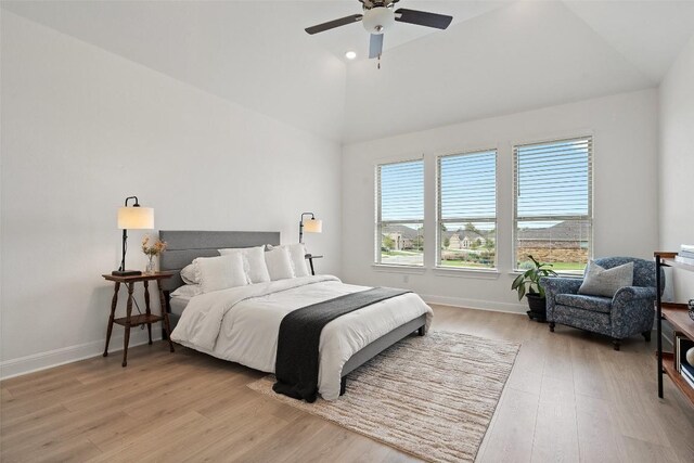
[[278, 382], [272, 389], [278, 394], [307, 402], [318, 396], [318, 347], [321, 332], [331, 321], [345, 313], [381, 300], [409, 293], [404, 290], [374, 287], [346, 294], [287, 313], [280, 323], [278, 356], [274, 374]]

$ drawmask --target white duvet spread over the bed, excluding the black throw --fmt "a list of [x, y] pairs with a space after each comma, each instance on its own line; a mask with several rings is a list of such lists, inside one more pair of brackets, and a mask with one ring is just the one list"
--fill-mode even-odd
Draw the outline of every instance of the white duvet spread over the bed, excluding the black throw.
[[[367, 286], [316, 275], [215, 291], [191, 298], [171, 339], [220, 359], [274, 373], [280, 323], [285, 314]], [[327, 323], [321, 332], [318, 391], [326, 400], [339, 396], [343, 365], [368, 344], [432, 309], [408, 293]]]

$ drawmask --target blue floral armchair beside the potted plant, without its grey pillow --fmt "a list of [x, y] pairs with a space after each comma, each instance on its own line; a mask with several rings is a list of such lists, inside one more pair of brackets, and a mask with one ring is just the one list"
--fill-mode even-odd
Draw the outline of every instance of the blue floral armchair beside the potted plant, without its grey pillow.
[[621, 339], [638, 333], [651, 340], [655, 317], [655, 262], [631, 257], [595, 259], [595, 263], [605, 269], [628, 262], [634, 265], [633, 285], [620, 288], [612, 298], [578, 294], [582, 279], [542, 278], [540, 284], [547, 294], [550, 331], [554, 332], [558, 323], [604, 334], [612, 337], [615, 350], [619, 350]]

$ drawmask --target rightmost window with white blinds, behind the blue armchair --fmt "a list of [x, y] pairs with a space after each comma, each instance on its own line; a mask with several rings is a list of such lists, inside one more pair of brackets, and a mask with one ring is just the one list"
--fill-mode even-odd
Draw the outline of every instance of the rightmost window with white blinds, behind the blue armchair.
[[514, 146], [516, 269], [579, 272], [592, 256], [591, 137]]

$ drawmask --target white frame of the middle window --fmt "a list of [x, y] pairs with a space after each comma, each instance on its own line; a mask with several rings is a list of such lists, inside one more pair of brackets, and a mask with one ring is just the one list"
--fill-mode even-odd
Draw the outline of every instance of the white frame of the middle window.
[[[441, 207], [441, 160], [446, 157], [471, 156], [475, 154], [493, 153], [494, 158], [494, 217], [457, 217], [453, 219], [444, 219]], [[442, 231], [441, 224], [446, 223], [463, 223], [463, 222], [493, 222], [494, 223], [494, 261], [492, 267], [449, 267], [441, 265], [441, 244]], [[499, 150], [498, 147], [467, 150], [458, 153], [440, 154], [436, 156], [436, 261], [437, 270], [452, 271], [473, 271], [489, 272], [497, 271], [499, 267]]]

